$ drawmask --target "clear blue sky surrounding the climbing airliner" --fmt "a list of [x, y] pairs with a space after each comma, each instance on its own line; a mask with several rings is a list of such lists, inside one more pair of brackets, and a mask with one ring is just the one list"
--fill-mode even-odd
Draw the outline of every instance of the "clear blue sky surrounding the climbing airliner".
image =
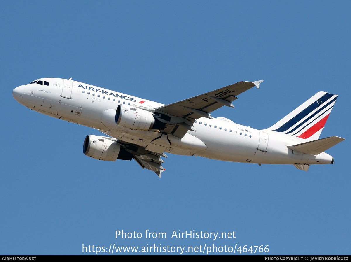
[[[269, 245], [270, 255], [350, 254], [350, 7], [349, 1], [1, 1], [0, 254], [80, 255], [82, 244]], [[73, 77], [164, 104], [264, 79], [260, 89], [240, 94], [234, 109], [212, 113], [257, 129], [326, 91], [339, 98], [321, 138], [346, 140], [327, 150], [335, 164], [308, 172], [169, 154], [159, 179], [135, 161], [85, 156], [85, 136], [98, 130], [13, 99], [13, 88], [42, 77]], [[122, 229], [166, 232], [167, 239], [116, 239]], [[235, 231], [236, 239], [174, 239], [174, 230]]]

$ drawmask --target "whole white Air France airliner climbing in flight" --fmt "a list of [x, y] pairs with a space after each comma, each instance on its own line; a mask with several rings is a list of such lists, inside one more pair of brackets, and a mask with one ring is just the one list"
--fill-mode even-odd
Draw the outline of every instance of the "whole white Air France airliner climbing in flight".
[[222, 161], [291, 164], [307, 171], [310, 165], [333, 164], [324, 151], [344, 140], [319, 139], [337, 95], [320, 91], [273, 126], [257, 130], [211, 112], [234, 107], [238, 95], [256, 86], [241, 81], [179, 102], [164, 105], [147, 99], [70, 79], [41, 78], [12, 91], [33, 111], [100, 130], [87, 135], [83, 153], [116, 161], [134, 159], [158, 177], [166, 153], [202, 156]]

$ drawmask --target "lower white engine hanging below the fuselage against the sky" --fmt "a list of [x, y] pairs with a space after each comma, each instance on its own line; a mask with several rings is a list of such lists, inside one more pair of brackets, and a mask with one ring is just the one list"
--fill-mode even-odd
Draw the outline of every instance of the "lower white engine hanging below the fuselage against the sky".
[[87, 135], [83, 144], [83, 153], [86, 156], [104, 160], [116, 161], [116, 159], [132, 160], [133, 155], [127, 152], [121, 145], [103, 136]]

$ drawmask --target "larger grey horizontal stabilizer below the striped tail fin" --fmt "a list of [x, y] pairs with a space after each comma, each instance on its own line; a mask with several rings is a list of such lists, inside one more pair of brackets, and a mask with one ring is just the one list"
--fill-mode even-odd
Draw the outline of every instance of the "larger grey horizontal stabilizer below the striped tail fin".
[[319, 155], [343, 140], [345, 139], [342, 137], [330, 136], [302, 144], [296, 144], [294, 146], [289, 146], [288, 148], [305, 154]]

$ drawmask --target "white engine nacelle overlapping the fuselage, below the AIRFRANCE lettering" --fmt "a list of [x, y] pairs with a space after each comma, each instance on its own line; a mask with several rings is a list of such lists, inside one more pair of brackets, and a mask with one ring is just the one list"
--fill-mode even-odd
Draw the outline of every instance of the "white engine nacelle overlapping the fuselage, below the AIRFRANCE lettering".
[[133, 106], [119, 105], [115, 115], [115, 122], [117, 125], [129, 129], [149, 130], [153, 127], [155, 118], [149, 111]]

